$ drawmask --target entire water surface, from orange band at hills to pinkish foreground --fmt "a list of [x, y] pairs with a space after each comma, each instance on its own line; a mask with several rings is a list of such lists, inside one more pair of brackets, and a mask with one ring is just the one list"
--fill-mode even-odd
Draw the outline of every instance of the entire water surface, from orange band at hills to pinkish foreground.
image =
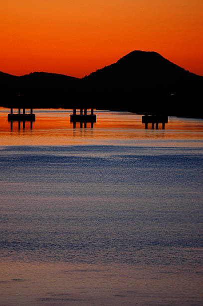
[[0, 109], [0, 305], [202, 305], [203, 120]]

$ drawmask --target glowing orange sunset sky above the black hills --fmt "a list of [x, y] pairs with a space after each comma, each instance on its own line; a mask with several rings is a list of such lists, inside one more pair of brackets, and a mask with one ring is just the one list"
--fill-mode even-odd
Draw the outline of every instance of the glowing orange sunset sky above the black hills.
[[132, 50], [203, 75], [203, 0], [0, 0], [0, 71], [82, 77]]

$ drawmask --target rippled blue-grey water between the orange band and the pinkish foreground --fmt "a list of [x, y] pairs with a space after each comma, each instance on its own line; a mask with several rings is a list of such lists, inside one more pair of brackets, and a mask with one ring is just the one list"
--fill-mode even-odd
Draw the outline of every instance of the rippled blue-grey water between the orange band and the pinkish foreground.
[[1, 146], [0, 256], [201, 266], [203, 148]]

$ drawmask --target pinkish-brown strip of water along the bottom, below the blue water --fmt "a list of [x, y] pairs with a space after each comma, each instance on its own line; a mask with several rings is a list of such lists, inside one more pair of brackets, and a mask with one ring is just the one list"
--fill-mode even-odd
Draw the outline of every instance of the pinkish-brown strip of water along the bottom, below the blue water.
[[69, 262], [0, 263], [3, 305], [202, 305], [202, 269]]

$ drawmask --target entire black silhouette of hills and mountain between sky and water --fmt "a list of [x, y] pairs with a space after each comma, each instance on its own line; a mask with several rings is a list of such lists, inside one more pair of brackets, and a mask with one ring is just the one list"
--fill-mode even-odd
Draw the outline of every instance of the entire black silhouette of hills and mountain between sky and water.
[[203, 76], [157, 52], [132, 51], [81, 79], [33, 72], [0, 72], [2, 106], [96, 107], [142, 113], [203, 117]]

